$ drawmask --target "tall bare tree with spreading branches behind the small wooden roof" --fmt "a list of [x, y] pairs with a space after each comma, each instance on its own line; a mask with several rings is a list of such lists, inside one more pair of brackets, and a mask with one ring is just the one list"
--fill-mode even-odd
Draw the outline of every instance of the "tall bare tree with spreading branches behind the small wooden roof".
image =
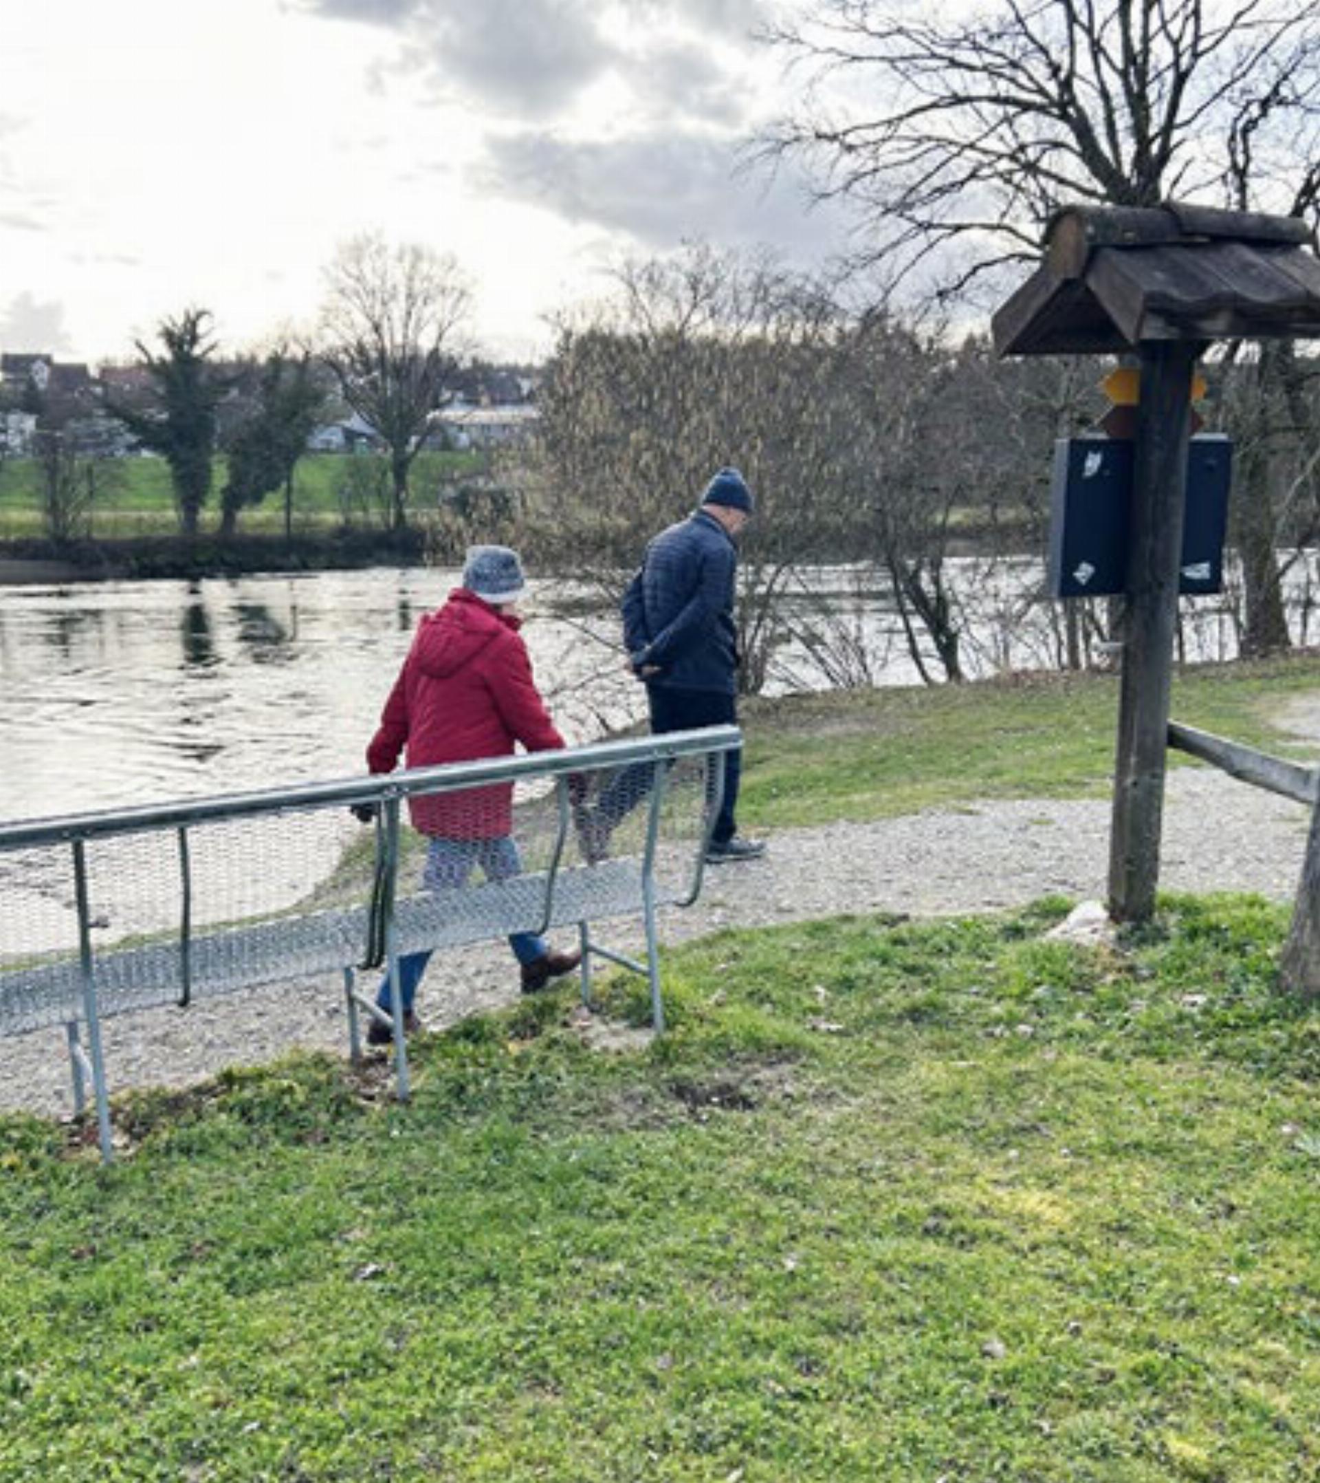
[[[987, 0], [941, 13], [816, 0], [770, 40], [812, 83], [767, 153], [806, 157], [822, 196], [858, 206], [862, 257], [919, 292], [1001, 289], [997, 270], [1034, 260], [1065, 202], [1320, 209], [1314, 4]], [[1286, 642], [1279, 529], [1261, 495], [1279, 475], [1268, 457], [1247, 472], [1244, 647], [1262, 651]]]

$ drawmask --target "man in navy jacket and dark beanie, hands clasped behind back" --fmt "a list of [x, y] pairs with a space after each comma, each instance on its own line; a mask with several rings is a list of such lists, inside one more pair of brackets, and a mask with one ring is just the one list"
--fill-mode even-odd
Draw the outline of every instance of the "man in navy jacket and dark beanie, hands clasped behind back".
[[[720, 469], [699, 507], [661, 531], [624, 595], [624, 642], [633, 673], [646, 685], [650, 730], [736, 724], [738, 630], [733, 623], [735, 541], [751, 519], [753, 497], [736, 469]], [[754, 860], [759, 839], [738, 833], [735, 811], [741, 752], [724, 753], [724, 793], [707, 860]], [[593, 810], [579, 810], [578, 833], [588, 860], [601, 859], [609, 833], [650, 787], [649, 768], [628, 768]]]

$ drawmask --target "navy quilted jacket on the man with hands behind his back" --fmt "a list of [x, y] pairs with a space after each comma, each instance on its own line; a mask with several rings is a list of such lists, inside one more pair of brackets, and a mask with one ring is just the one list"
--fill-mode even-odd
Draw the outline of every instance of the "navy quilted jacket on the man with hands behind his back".
[[661, 531], [646, 547], [641, 569], [624, 593], [624, 642], [634, 670], [659, 666], [647, 684], [736, 691], [736, 568], [733, 541], [704, 510]]

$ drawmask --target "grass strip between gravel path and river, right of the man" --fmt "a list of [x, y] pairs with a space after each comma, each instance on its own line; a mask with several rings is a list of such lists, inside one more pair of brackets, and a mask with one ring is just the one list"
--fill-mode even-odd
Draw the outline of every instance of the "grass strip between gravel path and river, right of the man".
[[[1289, 697], [1317, 691], [1317, 654], [1188, 667], [1175, 675], [1173, 716], [1286, 755], [1296, 740], [1271, 716]], [[739, 816], [785, 828], [978, 798], [1098, 798], [1111, 787], [1117, 706], [1119, 681], [1108, 675], [753, 701], [742, 716]]]

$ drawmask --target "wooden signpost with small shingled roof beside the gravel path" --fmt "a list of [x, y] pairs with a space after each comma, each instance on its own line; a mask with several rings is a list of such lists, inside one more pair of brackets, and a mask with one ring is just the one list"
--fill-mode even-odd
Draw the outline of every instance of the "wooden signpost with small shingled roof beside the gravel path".
[[[1117, 921], [1147, 921], [1159, 882], [1193, 366], [1216, 340], [1320, 335], [1313, 248], [1311, 228], [1293, 217], [1187, 202], [1065, 206], [1040, 267], [994, 316], [1000, 354], [1138, 359], [1107, 378], [1114, 406], [1104, 421], [1133, 442], [1110, 844]], [[1304, 891], [1310, 882], [1320, 893], [1320, 825], [1313, 845]], [[1308, 911], [1295, 957], [1320, 986], [1320, 906]]]

